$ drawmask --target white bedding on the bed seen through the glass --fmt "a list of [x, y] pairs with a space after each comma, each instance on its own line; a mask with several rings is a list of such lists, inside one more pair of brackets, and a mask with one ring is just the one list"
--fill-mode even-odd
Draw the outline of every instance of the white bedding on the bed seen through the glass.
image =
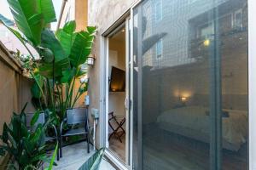
[[[210, 122], [209, 116], [207, 116], [207, 111], [209, 111], [208, 108], [201, 106], [188, 106], [172, 109], [169, 111], [165, 111], [160, 116], [158, 116], [157, 122], [160, 124], [169, 124], [176, 127], [178, 126], [183, 129], [192, 130], [198, 133], [196, 134], [197, 137], [195, 137], [195, 139], [205, 139], [206, 137], [198, 138], [198, 135], [209, 135], [210, 133]], [[224, 148], [230, 150], [239, 150], [241, 144], [244, 144], [247, 140], [247, 111], [224, 111], [229, 112], [229, 117], [223, 117], [222, 119], [223, 140], [224, 143], [228, 143], [234, 146], [232, 149], [230, 149], [229, 147], [225, 147], [225, 145], [227, 144], [224, 144]], [[162, 127], [164, 127], [167, 131], [173, 132], [174, 130], [171, 126]], [[186, 134], [186, 132], [183, 132], [182, 130], [180, 130], [178, 133], [181, 133], [185, 136], [188, 135], [188, 133]], [[193, 136], [189, 135], [189, 138], [193, 138]]]

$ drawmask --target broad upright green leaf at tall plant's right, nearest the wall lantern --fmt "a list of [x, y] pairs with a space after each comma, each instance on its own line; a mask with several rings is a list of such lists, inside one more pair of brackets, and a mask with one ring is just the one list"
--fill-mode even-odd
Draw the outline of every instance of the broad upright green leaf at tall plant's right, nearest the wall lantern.
[[84, 64], [90, 54], [93, 40], [94, 33], [90, 34], [87, 31], [80, 31], [75, 35], [69, 55], [70, 62], [73, 66], [78, 67]]

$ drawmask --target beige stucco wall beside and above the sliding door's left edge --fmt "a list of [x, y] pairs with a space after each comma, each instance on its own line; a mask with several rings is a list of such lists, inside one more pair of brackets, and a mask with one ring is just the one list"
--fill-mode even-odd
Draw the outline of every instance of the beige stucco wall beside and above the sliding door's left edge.
[[[101, 59], [105, 56], [101, 56], [101, 36], [108, 27], [112, 26], [115, 20], [118, 20], [119, 17], [125, 13], [132, 3], [135, 3], [136, 0], [88, 0], [88, 25], [97, 26], [97, 35], [92, 50], [92, 54], [96, 54], [96, 63], [89, 68], [89, 77], [90, 77], [90, 108], [100, 109], [100, 74], [102, 71]], [[99, 124], [96, 132], [96, 145], [100, 145], [100, 133], [99, 129], [102, 126]]]

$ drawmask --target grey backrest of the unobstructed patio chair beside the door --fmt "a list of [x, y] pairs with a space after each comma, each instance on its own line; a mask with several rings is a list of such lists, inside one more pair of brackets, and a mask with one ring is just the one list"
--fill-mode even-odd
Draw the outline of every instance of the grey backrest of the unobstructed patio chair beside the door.
[[87, 108], [67, 109], [67, 125], [87, 123]]

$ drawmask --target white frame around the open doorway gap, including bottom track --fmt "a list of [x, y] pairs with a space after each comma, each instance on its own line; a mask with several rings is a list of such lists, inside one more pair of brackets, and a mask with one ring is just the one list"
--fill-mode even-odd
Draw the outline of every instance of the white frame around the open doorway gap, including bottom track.
[[[130, 16], [127, 17], [125, 19], [125, 73], [126, 73], [126, 89], [125, 89], [125, 99], [130, 99], [131, 97], [128, 97], [129, 94], [130, 94], [130, 90], [129, 90], [129, 84], [131, 84], [131, 81], [129, 80], [129, 74], [131, 74], [129, 72], [129, 60], [130, 60], [130, 54], [131, 54], [131, 42], [129, 42], [129, 20], [130, 20]], [[122, 22], [124, 23], [124, 22]], [[122, 24], [121, 23], [121, 24]], [[130, 25], [131, 26], [131, 25]], [[102, 127], [100, 127], [101, 129], [101, 135], [102, 138], [101, 139], [101, 146], [103, 147], [106, 147], [108, 148], [109, 147], [109, 143], [108, 143], [108, 93], [109, 93], [109, 38], [108, 36], [107, 37], [104, 37], [102, 36], [101, 37], [101, 45], [102, 45], [102, 48], [101, 48], [101, 54], [102, 56], [105, 56], [105, 57], [102, 57], [102, 60], [101, 60], [101, 80], [104, 80], [102, 81], [102, 85], [101, 85], [101, 90], [100, 90], [100, 94], [101, 94], [101, 115], [102, 115]], [[130, 43], [130, 44], [129, 44]], [[130, 47], [129, 47], [130, 46]], [[130, 103], [130, 102], [129, 102]], [[128, 104], [129, 104], [128, 103]], [[124, 106], [125, 106], [125, 101], [124, 101]], [[130, 104], [128, 105], [128, 107], [130, 107]], [[109, 151], [109, 150], [106, 150], [106, 156], [108, 156], [108, 158], [113, 161], [113, 163], [119, 167], [120, 169], [131, 169], [131, 143], [132, 142], [132, 136], [131, 136], [131, 122], [130, 119], [131, 119], [131, 116], [129, 116], [131, 113], [129, 113], [131, 110], [130, 108], [128, 109], [125, 109], [125, 119], [126, 119], [126, 122], [125, 122], [125, 139], [126, 139], [126, 144], [125, 144], [125, 163], [126, 165], [124, 165], [123, 162], [119, 161], [119, 159], [116, 157], [116, 156], [113, 156], [113, 154]], [[129, 141], [127, 140], [129, 139]]]

